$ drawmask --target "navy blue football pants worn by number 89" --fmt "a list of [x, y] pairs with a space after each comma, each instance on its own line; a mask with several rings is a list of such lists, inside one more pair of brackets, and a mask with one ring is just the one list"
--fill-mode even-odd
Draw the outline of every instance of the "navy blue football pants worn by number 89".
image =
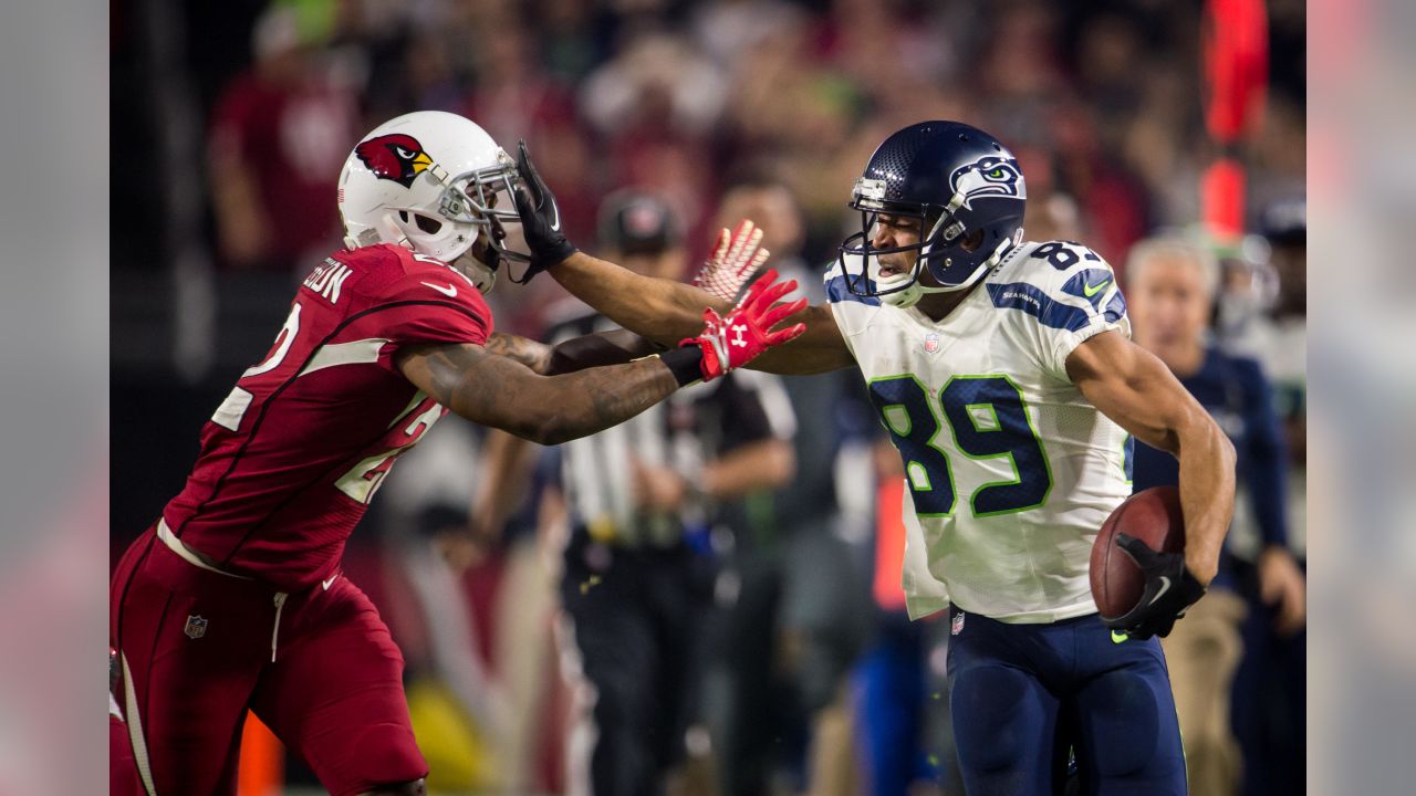
[[1185, 793], [1160, 642], [1116, 643], [1095, 615], [1005, 625], [950, 608], [949, 698], [969, 796]]

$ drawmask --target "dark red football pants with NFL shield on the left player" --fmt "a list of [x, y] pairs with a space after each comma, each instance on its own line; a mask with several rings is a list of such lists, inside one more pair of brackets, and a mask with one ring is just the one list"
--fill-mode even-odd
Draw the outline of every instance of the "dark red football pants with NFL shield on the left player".
[[428, 775], [404, 656], [343, 575], [280, 598], [187, 562], [149, 530], [113, 574], [109, 636], [150, 793], [235, 793], [246, 710], [334, 796]]

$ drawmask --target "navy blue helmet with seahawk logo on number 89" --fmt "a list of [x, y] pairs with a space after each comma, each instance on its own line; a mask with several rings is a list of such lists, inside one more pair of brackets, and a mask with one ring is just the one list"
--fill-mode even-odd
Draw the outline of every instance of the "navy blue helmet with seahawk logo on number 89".
[[[1021, 242], [1025, 205], [1022, 170], [998, 139], [961, 122], [910, 125], [885, 139], [855, 181], [850, 207], [861, 231], [840, 248], [847, 289], [912, 306], [923, 293], [969, 288]], [[874, 248], [881, 214], [918, 218], [919, 242]], [[919, 254], [913, 271], [881, 278], [875, 256], [896, 252]], [[926, 266], [937, 286], [919, 283]]]

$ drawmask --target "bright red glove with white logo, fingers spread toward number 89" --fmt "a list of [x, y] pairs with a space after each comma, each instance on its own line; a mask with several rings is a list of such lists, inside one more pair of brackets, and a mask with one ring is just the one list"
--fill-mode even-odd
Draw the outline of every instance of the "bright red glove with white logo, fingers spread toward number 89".
[[704, 330], [698, 337], [678, 343], [702, 348], [704, 358], [700, 367], [704, 381], [712, 381], [731, 370], [741, 368], [767, 348], [794, 340], [806, 331], [804, 323], [772, 330], [782, 323], [782, 319], [806, 309], [806, 299], [773, 306], [777, 299], [796, 290], [796, 279], [786, 282], [776, 279], [776, 269], [767, 269], [748, 288], [748, 295], [738, 302], [728, 317], [711, 307], [704, 310]]

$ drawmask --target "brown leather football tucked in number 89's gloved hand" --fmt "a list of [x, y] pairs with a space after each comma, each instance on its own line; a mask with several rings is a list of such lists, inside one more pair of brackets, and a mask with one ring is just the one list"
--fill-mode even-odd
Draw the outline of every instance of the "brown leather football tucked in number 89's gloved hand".
[[1153, 550], [1184, 552], [1185, 521], [1180, 511], [1180, 490], [1157, 486], [1126, 499], [1102, 523], [1092, 544], [1092, 598], [1103, 619], [1124, 616], [1141, 599], [1146, 578], [1140, 567], [1116, 544], [1127, 533]]

